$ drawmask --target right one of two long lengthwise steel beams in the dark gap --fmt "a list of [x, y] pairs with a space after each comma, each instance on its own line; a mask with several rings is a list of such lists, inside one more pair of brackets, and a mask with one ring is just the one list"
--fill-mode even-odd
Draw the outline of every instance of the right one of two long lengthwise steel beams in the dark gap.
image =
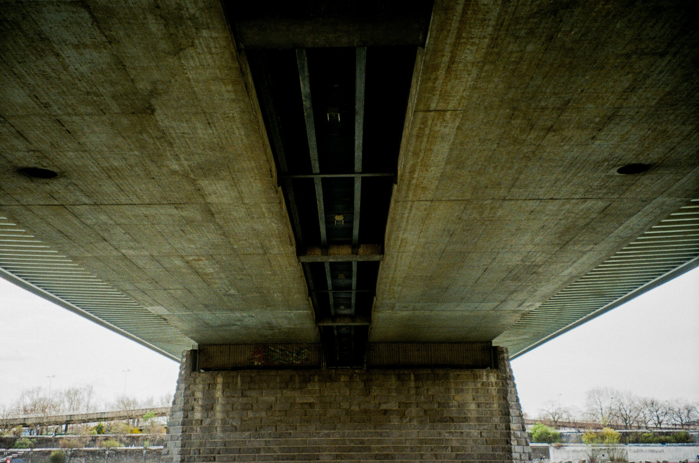
[[[366, 82], [366, 47], [357, 47], [356, 49], [356, 63], [354, 74], [354, 172], [361, 172], [362, 142], [364, 138], [364, 84]], [[354, 177], [354, 219], [352, 221], [352, 244], [359, 243], [360, 205], [361, 177]], [[352, 314], [354, 314], [354, 297], [352, 298]]]

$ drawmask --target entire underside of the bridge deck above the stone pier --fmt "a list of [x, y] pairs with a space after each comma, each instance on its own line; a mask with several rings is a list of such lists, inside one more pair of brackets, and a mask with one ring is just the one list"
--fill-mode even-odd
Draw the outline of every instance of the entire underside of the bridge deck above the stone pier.
[[511, 383], [502, 348], [699, 263], [684, 2], [2, 4], [0, 276], [195, 349], [192, 390], [264, 367]]

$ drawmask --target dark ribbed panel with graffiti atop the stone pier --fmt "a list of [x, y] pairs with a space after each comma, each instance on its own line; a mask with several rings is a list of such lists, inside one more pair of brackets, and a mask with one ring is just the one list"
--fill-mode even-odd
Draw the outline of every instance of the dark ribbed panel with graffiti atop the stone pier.
[[320, 344], [201, 344], [198, 368], [303, 369], [320, 368]]

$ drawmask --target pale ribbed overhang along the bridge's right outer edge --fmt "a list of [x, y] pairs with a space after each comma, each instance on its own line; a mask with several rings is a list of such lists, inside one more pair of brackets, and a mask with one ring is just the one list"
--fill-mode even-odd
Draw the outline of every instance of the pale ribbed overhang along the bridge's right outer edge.
[[511, 358], [662, 284], [698, 263], [699, 199], [673, 212], [493, 340]]

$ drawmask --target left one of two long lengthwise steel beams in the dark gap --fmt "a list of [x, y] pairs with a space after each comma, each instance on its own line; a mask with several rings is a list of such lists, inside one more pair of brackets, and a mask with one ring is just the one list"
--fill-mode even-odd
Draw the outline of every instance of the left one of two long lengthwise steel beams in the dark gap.
[[[310, 75], [308, 73], [308, 57], [304, 48], [296, 49], [296, 64], [298, 64], [298, 78], [301, 82], [301, 99], [303, 100], [303, 116], [305, 117], [306, 136], [308, 137], [308, 154], [314, 174], [320, 173], [318, 163], [318, 145], [315, 136], [315, 122], [313, 120], [313, 105], [310, 99]], [[318, 207], [318, 224], [320, 227], [320, 242], [322, 246], [328, 244], [328, 235], [325, 229], [325, 205], [323, 201], [323, 184], [321, 177], [315, 177], [315, 199]]]

